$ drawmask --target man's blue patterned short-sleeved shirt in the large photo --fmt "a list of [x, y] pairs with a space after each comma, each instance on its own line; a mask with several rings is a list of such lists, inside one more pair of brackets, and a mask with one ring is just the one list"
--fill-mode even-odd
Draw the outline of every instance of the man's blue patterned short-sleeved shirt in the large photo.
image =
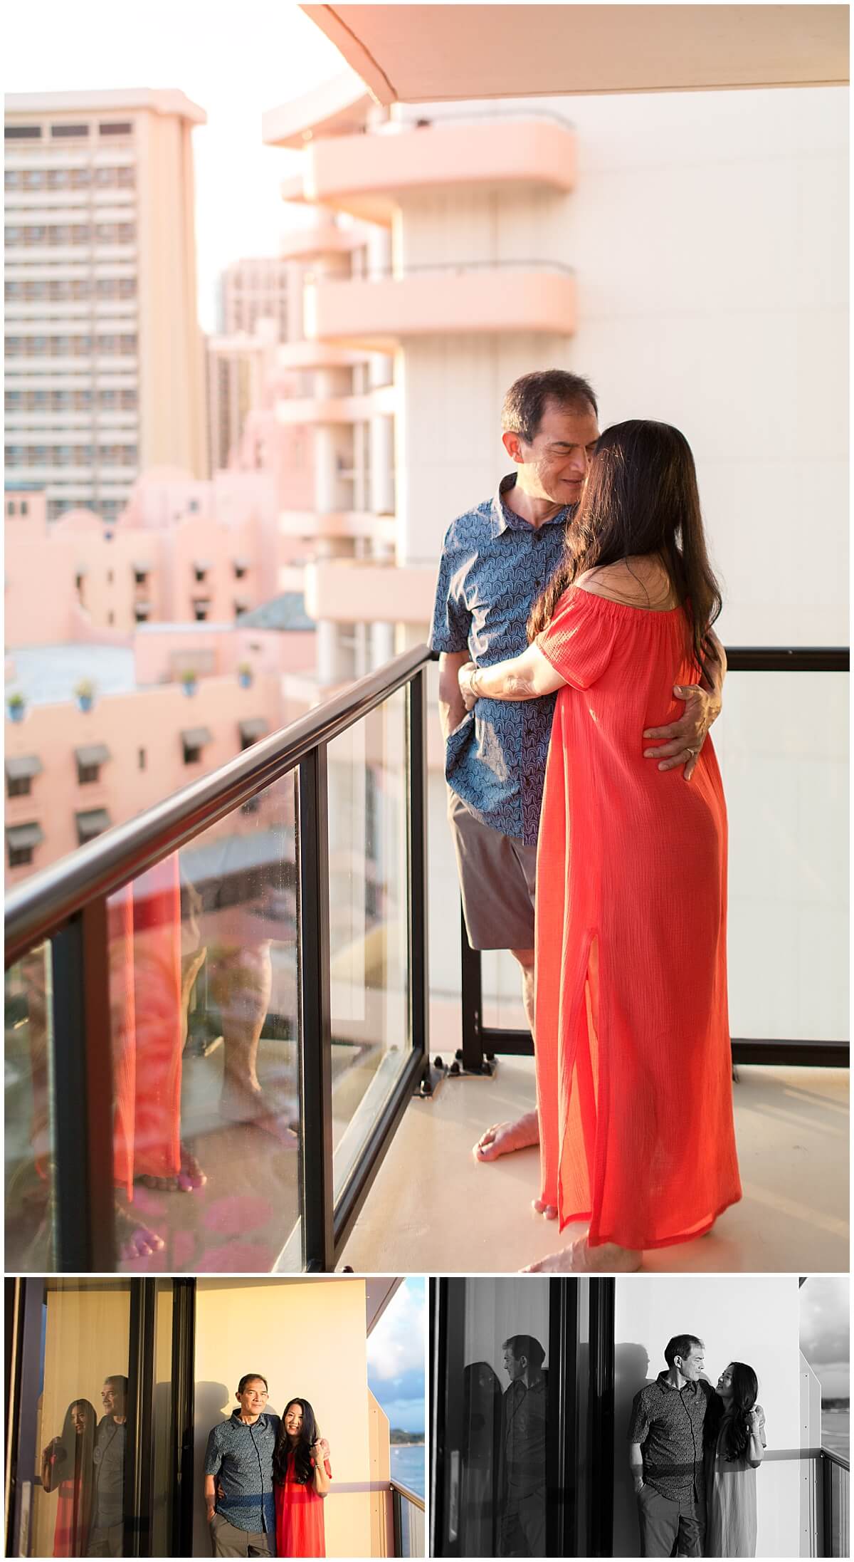
[[[492, 667], [528, 648], [531, 608], [560, 565], [571, 508], [542, 526], [514, 514], [503, 495], [448, 526], [429, 631], [434, 651], [468, 651]], [[556, 695], [542, 700], [478, 700], [448, 739], [448, 786], [484, 825], [537, 843], [545, 762]]]

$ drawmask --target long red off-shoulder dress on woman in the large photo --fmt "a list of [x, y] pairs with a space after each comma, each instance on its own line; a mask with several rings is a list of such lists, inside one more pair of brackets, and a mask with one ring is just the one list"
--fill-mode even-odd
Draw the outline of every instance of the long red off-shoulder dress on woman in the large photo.
[[726, 1001], [726, 806], [643, 758], [696, 683], [681, 608], [570, 589], [537, 645], [556, 701], [537, 853], [540, 1198], [589, 1243], [689, 1242], [742, 1196]]

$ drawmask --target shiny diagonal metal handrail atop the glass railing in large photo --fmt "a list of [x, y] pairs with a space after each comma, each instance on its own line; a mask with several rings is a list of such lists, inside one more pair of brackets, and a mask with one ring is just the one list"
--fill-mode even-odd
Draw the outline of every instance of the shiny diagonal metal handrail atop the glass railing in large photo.
[[431, 659], [426, 645], [403, 651], [279, 733], [253, 744], [212, 775], [190, 781], [136, 818], [105, 829], [78, 851], [16, 886], [6, 897], [6, 965], [56, 933], [89, 901], [130, 884], [145, 868], [287, 775], [318, 744], [328, 744], [403, 689]]

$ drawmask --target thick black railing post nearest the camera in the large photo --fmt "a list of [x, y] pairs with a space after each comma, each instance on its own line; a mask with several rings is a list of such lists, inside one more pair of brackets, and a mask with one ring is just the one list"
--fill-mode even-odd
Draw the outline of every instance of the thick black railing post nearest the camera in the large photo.
[[97, 1273], [116, 1268], [109, 928], [103, 895], [53, 936], [50, 967], [56, 1268]]

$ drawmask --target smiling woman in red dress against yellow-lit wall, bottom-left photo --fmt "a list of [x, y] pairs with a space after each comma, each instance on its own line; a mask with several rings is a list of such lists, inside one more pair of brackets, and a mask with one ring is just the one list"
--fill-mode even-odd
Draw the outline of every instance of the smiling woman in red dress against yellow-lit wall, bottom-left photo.
[[290, 1400], [273, 1453], [276, 1553], [325, 1557], [323, 1498], [333, 1481], [329, 1443], [320, 1437], [308, 1400]]

